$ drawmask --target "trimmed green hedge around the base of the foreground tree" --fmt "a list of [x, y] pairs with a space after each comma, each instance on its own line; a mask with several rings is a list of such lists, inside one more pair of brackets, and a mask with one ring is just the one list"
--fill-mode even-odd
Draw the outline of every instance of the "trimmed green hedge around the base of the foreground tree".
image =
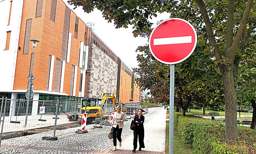
[[239, 139], [228, 142], [225, 125], [220, 122], [175, 112], [174, 124], [183, 143], [191, 146], [195, 154], [256, 153], [256, 130], [248, 127], [238, 126]]

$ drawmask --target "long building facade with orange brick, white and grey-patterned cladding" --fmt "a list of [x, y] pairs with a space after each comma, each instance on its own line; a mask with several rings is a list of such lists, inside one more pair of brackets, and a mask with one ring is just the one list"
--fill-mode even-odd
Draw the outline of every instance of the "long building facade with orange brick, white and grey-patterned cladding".
[[26, 99], [33, 73], [33, 100], [139, 100], [130, 68], [62, 0], [2, 0], [0, 13], [1, 97]]

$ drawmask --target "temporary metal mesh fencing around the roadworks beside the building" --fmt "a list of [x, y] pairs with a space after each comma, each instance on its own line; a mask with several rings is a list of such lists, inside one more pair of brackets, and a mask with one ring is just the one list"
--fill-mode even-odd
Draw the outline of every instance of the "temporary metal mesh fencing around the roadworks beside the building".
[[[78, 113], [78, 105], [81, 105], [80, 112]], [[0, 148], [8, 148], [8, 145], [1, 144], [3, 134], [7, 133], [23, 133], [24, 135], [30, 135], [34, 133], [35, 129], [50, 127], [52, 135], [50, 138], [54, 138], [56, 135], [56, 126], [69, 124], [76, 122], [77, 115], [82, 113], [83, 107], [95, 106], [95, 104], [87, 103], [85, 106], [82, 102], [74, 101], [59, 101], [58, 100], [18, 100], [0, 98], [1, 105], [1, 119], [0, 119]], [[137, 113], [139, 108], [147, 111], [147, 106], [125, 106], [126, 118], [132, 118], [133, 111]], [[104, 114], [111, 115], [114, 112], [113, 105], [106, 104]], [[73, 119], [68, 118], [73, 116]], [[74, 132], [73, 132], [74, 133]], [[58, 134], [60, 136], [61, 134]]]

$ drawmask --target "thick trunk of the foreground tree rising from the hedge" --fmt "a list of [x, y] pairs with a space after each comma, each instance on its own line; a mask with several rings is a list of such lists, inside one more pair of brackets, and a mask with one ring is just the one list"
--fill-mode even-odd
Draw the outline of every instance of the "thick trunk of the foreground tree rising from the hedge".
[[237, 140], [237, 100], [234, 88], [233, 69], [231, 64], [220, 65], [225, 94], [225, 133], [226, 140]]

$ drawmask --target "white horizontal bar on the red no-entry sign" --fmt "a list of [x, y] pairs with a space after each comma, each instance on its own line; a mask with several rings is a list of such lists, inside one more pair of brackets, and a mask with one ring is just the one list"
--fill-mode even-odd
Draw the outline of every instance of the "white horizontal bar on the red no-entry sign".
[[171, 45], [180, 43], [192, 43], [192, 36], [168, 37], [154, 39], [153, 45]]

